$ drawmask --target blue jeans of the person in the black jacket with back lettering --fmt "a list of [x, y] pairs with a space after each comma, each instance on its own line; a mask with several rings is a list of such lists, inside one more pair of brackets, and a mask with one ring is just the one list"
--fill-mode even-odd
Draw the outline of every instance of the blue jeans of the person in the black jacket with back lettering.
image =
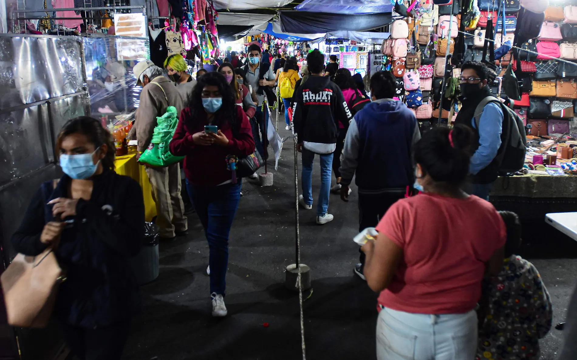
[[[319, 155], [321, 157], [321, 192], [317, 204], [317, 216], [323, 216], [328, 211], [328, 197], [331, 194], [331, 165], [333, 154]], [[307, 205], [313, 204], [313, 160], [314, 152], [302, 149], [302, 197]]]

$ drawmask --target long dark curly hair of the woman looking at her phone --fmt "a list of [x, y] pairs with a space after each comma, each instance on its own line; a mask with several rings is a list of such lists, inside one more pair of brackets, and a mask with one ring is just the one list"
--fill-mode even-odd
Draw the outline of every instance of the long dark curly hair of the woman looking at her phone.
[[203, 106], [202, 93], [206, 86], [218, 87], [220, 96], [222, 97], [222, 106], [215, 113], [215, 119], [212, 125], [220, 126], [222, 125], [223, 119], [228, 119], [231, 122], [231, 126], [234, 128], [237, 126], [236, 118], [234, 115], [234, 93], [233, 88], [227, 83], [226, 78], [223, 74], [218, 72], [209, 72], [198, 78], [196, 85], [190, 94], [188, 100], [188, 107], [190, 108], [190, 114], [192, 119], [197, 119], [199, 117], [205, 116], [205, 110]]

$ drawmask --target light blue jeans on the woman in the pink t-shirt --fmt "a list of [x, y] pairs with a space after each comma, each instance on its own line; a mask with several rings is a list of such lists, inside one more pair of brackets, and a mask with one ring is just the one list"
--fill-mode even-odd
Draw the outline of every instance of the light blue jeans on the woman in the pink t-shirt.
[[413, 314], [385, 307], [377, 318], [377, 360], [473, 360], [477, 313]]

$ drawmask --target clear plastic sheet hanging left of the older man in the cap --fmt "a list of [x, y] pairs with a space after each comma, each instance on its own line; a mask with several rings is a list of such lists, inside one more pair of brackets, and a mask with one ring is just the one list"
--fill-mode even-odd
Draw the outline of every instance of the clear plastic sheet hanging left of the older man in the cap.
[[132, 68], [149, 57], [148, 39], [84, 37], [83, 44], [91, 115], [106, 117], [108, 125], [136, 111], [142, 88], [136, 86]]

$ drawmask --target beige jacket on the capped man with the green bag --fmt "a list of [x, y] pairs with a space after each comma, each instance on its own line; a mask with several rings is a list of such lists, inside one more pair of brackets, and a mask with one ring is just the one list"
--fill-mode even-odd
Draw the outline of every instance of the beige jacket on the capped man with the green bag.
[[[152, 83], [159, 84], [162, 89]], [[164, 93], [162, 92], [163, 90]], [[164, 96], [165, 93], [166, 96]], [[182, 109], [185, 107], [182, 95], [178, 88], [174, 86], [173, 81], [164, 76], [155, 77], [140, 92], [140, 104], [138, 104], [134, 115], [133, 129], [136, 129], [138, 151], [143, 152], [148, 147], [156, 127], [156, 117], [164, 115], [168, 106], [177, 108], [177, 114], [180, 116]]]

